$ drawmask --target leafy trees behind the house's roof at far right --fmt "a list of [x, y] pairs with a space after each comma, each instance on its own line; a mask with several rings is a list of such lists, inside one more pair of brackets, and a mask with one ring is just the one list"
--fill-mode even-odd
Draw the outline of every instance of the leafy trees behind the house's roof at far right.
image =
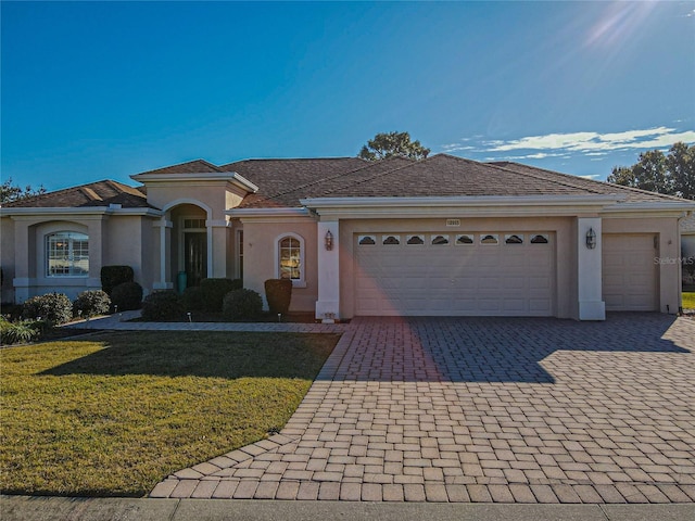
[[608, 182], [695, 200], [695, 145], [675, 143], [665, 155], [659, 150], [640, 154], [632, 166], [616, 166]]

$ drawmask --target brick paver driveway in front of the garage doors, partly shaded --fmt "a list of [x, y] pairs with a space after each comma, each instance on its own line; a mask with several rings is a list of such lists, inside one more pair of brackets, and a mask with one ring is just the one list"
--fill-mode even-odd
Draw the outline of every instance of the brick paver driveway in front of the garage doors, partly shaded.
[[278, 435], [153, 497], [695, 500], [695, 321], [356, 319]]

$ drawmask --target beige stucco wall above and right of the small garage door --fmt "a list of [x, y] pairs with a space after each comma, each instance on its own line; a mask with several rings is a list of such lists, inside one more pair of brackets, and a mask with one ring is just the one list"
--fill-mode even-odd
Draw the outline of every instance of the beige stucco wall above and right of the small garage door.
[[633, 217], [603, 219], [604, 233], [655, 233], [658, 249], [654, 251], [658, 271], [659, 310], [674, 314], [681, 302], [680, 240], [675, 217]]

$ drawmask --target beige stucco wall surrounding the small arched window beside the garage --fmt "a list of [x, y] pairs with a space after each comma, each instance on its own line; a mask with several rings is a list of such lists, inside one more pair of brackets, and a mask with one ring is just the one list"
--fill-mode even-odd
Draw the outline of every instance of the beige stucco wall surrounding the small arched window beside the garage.
[[244, 275], [243, 285], [257, 291], [265, 298], [264, 283], [278, 277], [277, 247], [280, 237], [295, 233], [304, 240], [305, 288], [292, 289], [291, 312], [314, 312], [318, 298], [316, 221], [292, 219], [291, 221], [258, 223], [244, 220]]

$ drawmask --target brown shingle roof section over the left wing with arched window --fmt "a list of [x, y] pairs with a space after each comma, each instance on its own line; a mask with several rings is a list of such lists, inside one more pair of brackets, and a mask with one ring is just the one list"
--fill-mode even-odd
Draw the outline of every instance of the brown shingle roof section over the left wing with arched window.
[[124, 208], [150, 207], [147, 198], [139, 189], [112, 180], [90, 182], [55, 192], [47, 192], [41, 195], [5, 203], [3, 207], [77, 208], [109, 206], [110, 204], [121, 204]]

